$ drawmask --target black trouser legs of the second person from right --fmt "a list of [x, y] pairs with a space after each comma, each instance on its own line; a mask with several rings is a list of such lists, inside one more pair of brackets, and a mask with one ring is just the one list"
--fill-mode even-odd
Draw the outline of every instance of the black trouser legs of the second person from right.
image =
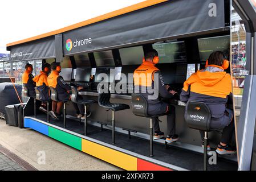
[[[166, 109], [162, 109], [162, 113], [166, 112]], [[175, 107], [173, 105], [168, 105], [168, 111], [166, 112], [167, 115], [167, 135], [173, 136], [175, 135]], [[153, 129], [156, 132], [161, 131], [159, 127], [159, 119], [158, 117], [154, 117], [153, 121]]]

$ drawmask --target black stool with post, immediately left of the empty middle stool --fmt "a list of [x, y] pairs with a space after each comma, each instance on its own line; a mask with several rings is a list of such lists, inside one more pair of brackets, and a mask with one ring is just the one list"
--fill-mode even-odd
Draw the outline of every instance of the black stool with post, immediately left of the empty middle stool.
[[78, 90], [74, 86], [71, 86], [72, 94], [71, 94], [71, 101], [76, 104], [83, 104], [84, 105], [84, 135], [87, 135], [87, 113], [86, 113], [86, 105], [87, 104], [94, 104], [96, 101], [94, 100], [78, 100]]

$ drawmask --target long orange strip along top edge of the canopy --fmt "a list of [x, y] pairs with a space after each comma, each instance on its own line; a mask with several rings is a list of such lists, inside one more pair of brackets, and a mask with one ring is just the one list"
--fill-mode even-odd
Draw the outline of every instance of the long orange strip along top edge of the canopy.
[[158, 3], [165, 2], [165, 1], [168, 1], [168, 0], [143, 1], [143, 2], [137, 3], [135, 5], [124, 7], [123, 9], [120, 9], [120, 10], [112, 11], [111, 13], [107, 13], [107, 14], [104, 14], [104, 15], [101, 15], [101, 16], [97, 16], [95, 18], [88, 19], [88, 20], [85, 20], [85, 21], [80, 22], [80, 23], [72, 24], [71, 26], [60, 28], [59, 30], [51, 31], [51, 32], [48, 32], [46, 34], [41, 34], [41, 35], [38, 35], [38, 36], [33, 36], [32, 38], [23, 39], [23, 40], [19, 40], [17, 42], [6, 44], [6, 47], [10, 47], [10, 46], [14, 46], [14, 45], [17, 45], [17, 44], [30, 42], [32, 40], [46, 38], [47, 36], [61, 34], [61, 33], [66, 32], [66, 31], [74, 30], [75, 28], [87, 26], [88, 24], [100, 22], [100, 21], [105, 20], [105, 19], [113, 18], [115, 16], [119, 16], [119, 15], [122, 15], [122, 14], [125, 14], [125, 13], [130, 13], [132, 11], [143, 9], [145, 7], [156, 5]]

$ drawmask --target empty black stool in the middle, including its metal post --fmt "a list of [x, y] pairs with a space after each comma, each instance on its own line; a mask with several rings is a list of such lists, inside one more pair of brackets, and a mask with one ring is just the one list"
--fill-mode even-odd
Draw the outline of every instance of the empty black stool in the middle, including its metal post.
[[112, 144], [115, 144], [115, 111], [130, 109], [127, 104], [112, 104], [110, 100], [110, 93], [100, 93], [98, 98], [98, 104], [101, 107], [112, 110]]

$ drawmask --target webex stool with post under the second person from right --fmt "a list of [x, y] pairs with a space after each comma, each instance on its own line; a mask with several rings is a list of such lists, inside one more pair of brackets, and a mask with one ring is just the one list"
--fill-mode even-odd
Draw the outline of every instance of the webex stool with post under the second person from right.
[[153, 156], [153, 125], [152, 125], [152, 118], [160, 117], [164, 114], [159, 115], [148, 115], [148, 102], [147, 100], [141, 96], [141, 94], [132, 94], [132, 113], [140, 116], [150, 118], [150, 126], [149, 126], [149, 156]]

